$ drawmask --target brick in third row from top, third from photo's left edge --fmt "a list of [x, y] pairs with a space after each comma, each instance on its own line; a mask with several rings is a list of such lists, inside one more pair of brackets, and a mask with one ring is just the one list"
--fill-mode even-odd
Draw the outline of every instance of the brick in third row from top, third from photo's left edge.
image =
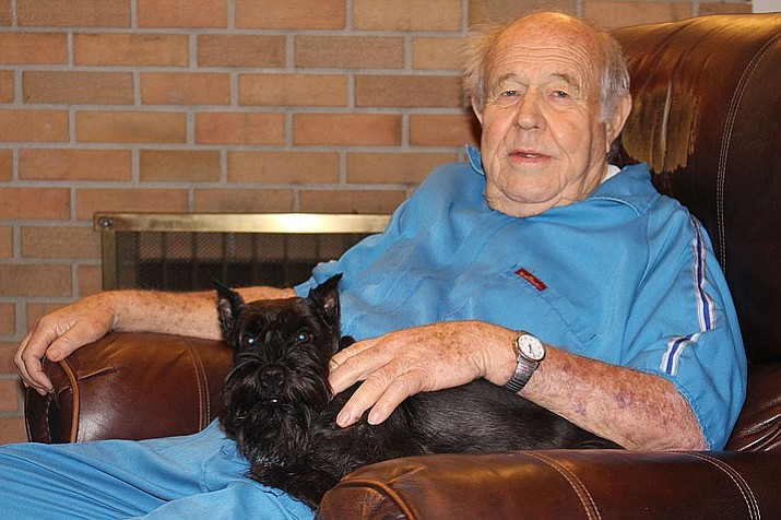
[[145, 72], [141, 102], [147, 105], [227, 105], [230, 76], [222, 73]]

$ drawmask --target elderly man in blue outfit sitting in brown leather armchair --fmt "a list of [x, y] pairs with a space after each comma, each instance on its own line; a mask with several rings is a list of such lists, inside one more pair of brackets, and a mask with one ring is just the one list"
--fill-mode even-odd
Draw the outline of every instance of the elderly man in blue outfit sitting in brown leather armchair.
[[[406, 397], [475, 378], [506, 386], [628, 449], [719, 449], [745, 395], [732, 302], [699, 223], [660, 196], [644, 165], [608, 165], [631, 99], [607, 35], [537, 13], [475, 36], [466, 91], [482, 155], [435, 170], [388, 229], [295, 288], [335, 272], [343, 330], [331, 383], [364, 380], [342, 410], [379, 423]], [[255, 287], [247, 299], [291, 296]], [[217, 338], [213, 294], [104, 293], [43, 318], [16, 364], [109, 330]], [[4, 511], [60, 517], [308, 516], [242, 478], [218, 426], [153, 441], [9, 447]], [[262, 512], [261, 512], [262, 511]]]

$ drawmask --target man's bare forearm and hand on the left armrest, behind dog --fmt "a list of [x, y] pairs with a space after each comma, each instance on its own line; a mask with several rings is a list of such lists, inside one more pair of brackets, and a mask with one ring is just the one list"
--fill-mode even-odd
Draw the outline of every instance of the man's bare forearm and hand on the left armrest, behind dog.
[[[293, 289], [239, 289], [247, 300], [286, 298]], [[25, 386], [51, 391], [42, 367], [44, 356], [59, 362], [76, 348], [110, 331], [149, 331], [218, 339], [214, 292], [164, 293], [111, 291], [75, 302], [40, 318], [22, 339], [14, 364]]]

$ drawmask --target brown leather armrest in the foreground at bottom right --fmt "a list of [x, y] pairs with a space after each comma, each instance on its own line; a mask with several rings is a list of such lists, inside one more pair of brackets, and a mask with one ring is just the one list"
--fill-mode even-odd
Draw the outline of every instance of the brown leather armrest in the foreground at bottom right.
[[781, 452], [517, 451], [386, 461], [317, 518], [760, 518], [781, 510]]

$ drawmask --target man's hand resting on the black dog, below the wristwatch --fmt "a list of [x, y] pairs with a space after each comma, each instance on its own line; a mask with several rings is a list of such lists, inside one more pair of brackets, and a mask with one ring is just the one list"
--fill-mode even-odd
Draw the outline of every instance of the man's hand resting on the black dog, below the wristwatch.
[[368, 421], [379, 424], [410, 395], [481, 377], [504, 385], [516, 367], [513, 338], [511, 330], [489, 323], [450, 321], [357, 342], [331, 359], [334, 392], [364, 380], [336, 423], [348, 426], [371, 409]]

